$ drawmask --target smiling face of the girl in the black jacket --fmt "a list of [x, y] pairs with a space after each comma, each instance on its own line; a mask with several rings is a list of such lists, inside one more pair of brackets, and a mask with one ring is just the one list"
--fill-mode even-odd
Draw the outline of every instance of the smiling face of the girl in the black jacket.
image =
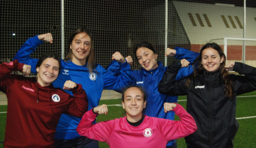
[[207, 72], [217, 71], [223, 60], [224, 56], [220, 57], [219, 52], [211, 47], [202, 51], [202, 65]]

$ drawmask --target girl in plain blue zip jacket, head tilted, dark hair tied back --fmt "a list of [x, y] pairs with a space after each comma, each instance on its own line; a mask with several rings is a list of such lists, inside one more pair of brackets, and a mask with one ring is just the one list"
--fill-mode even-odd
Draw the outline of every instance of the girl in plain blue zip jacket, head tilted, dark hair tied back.
[[[168, 50], [171, 49], [168, 48], [167, 52]], [[199, 55], [199, 53], [187, 51], [187, 49], [184, 48], [176, 47], [175, 51], [175, 58], [188, 58], [190, 63], [193, 62]], [[160, 61], [156, 60], [158, 55], [154, 46], [150, 43], [139, 43], [135, 46], [134, 52], [139, 64], [141, 65], [141, 70], [129, 70], [128, 74], [132, 79], [131, 85], [141, 86], [146, 92], [147, 105], [143, 114], [151, 117], [174, 120], [174, 112], [164, 113], [163, 104], [164, 102], [177, 102], [178, 97], [160, 94], [157, 90], [158, 83], [162, 79], [167, 67], [164, 67]], [[167, 55], [169, 55], [169, 53]], [[120, 65], [117, 61], [113, 60], [112, 63], [107, 67], [107, 70], [113, 75], [117, 76], [120, 74]], [[189, 76], [192, 72], [192, 66], [181, 68], [179, 74], [177, 74], [176, 80]], [[167, 146], [176, 147], [176, 140], [169, 141]]]

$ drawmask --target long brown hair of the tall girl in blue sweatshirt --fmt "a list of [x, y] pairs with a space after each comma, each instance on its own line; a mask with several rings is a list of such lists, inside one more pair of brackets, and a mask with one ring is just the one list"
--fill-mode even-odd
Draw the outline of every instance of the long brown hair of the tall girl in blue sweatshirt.
[[[85, 27], [85, 26], [81, 26], [79, 28], [77, 28], [75, 31], [73, 31], [69, 37], [68, 40], [68, 45], [66, 48], [67, 51], [67, 56], [65, 58], [66, 61], [71, 62], [72, 61], [72, 49], [70, 49], [70, 45], [72, 44], [72, 41], [74, 39], [74, 37], [81, 32], [85, 32], [86, 34], [89, 35], [89, 37], [91, 38], [91, 47], [90, 47], [90, 53], [89, 55], [86, 57], [86, 62], [87, 62], [87, 68], [90, 70], [90, 72], [93, 72], [93, 69], [95, 69], [95, 59], [94, 59], [94, 48], [93, 48], [93, 37], [91, 32]], [[69, 61], [70, 60], [70, 61]]]

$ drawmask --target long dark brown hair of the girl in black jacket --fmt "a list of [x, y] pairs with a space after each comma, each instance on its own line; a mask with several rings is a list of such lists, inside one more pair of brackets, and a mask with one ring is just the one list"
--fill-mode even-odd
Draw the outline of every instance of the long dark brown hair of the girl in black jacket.
[[232, 85], [232, 81], [229, 77], [229, 73], [226, 71], [225, 69], [225, 65], [226, 65], [226, 56], [222, 50], [222, 48], [216, 44], [216, 43], [207, 43], [205, 44], [202, 49], [200, 50], [200, 54], [198, 56], [198, 58], [195, 60], [194, 63], [198, 64], [198, 67], [196, 69], [194, 69], [194, 73], [191, 74], [191, 76], [188, 78], [187, 82], [186, 82], [186, 86], [188, 87], [191, 80], [202, 74], [204, 72], [204, 68], [203, 68], [203, 64], [202, 64], [202, 51], [206, 48], [213, 48], [215, 50], [218, 51], [220, 57], [224, 57], [223, 58], [223, 62], [220, 63], [220, 67], [219, 67], [219, 71], [220, 71], [220, 74], [222, 75], [224, 81], [225, 81], [225, 96], [228, 97], [229, 99], [232, 99], [233, 97], [233, 85]]

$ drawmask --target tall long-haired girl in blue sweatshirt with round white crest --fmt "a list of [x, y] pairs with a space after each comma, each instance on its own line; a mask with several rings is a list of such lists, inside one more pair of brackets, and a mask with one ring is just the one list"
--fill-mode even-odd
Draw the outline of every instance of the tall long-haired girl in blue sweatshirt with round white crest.
[[[31, 65], [31, 72], [36, 73], [35, 67], [38, 59], [30, 58], [30, 54], [35, 51], [38, 45], [43, 44], [43, 41], [52, 43], [52, 35], [48, 33], [29, 38], [17, 52], [14, 59]], [[123, 87], [127, 87], [131, 81], [125, 75], [115, 77], [101, 65], [95, 64], [93, 38], [90, 31], [85, 27], [79, 27], [71, 34], [67, 52], [66, 61], [61, 59], [61, 72], [53, 85], [54, 87], [63, 88], [66, 80], [82, 84], [88, 97], [88, 110], [98, 106], [103, 89], [120, 91]], [[120, 61], [121, 70], [130, 69], [129, 64], [123, 57], [116, 60]], [[73, 95], [71, 91], [66, 92]], [[80, 145], [81, 147], [98, 147], [97, 141], [86, 139], [76, 132], [80, 120], [81, 118], [74, 116], [61, 115], [55, 134], [55, 147], [63, 147], [64, 145], [65, 147], [73, 147], [73, 145], [79, 145], [79, 143], [89, 143]], [[74, 142], [76, 140], [77, 142]]]

